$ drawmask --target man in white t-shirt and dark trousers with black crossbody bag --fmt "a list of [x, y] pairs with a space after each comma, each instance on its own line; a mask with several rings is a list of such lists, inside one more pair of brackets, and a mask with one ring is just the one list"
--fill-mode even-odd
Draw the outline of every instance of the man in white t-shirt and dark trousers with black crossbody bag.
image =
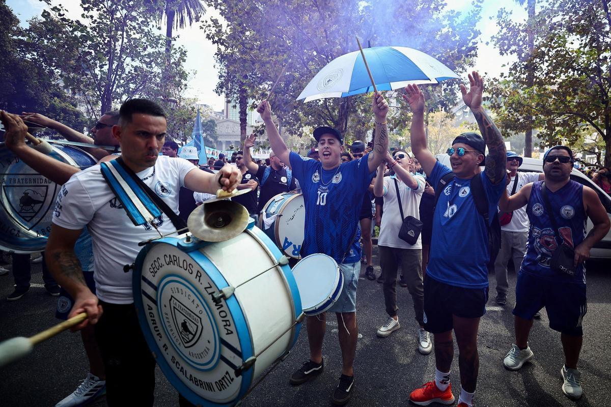
[[425, 179], [415, 175], [414, 162], [409, 154], [397, 149], [386, 162], [395, 171], [394, 176], [384, 176], [384, 164], [378, 168], [373, 184], [375, 196], [384, 198], [384, 211], [378, 248], [380, 267], [384, 276], [384, 303], [388, 319], [378, 330], [379, 337], [387, 337], [400, 328], [397, 315], [397, 270], [401, 267], [403, 281], [407, 283], [409, 294], [414, 303], [415, 320], [418, 323], [418, 350], [422, 355], [431, 353], [432, 345], [428, 332], [424, 329], [424, 295], [422, 287], [422, 243], [420, 237], [410, 245], [398, 237], [403, 219], [412, 216], [419, 218], [419, 205], [425, 189]]

